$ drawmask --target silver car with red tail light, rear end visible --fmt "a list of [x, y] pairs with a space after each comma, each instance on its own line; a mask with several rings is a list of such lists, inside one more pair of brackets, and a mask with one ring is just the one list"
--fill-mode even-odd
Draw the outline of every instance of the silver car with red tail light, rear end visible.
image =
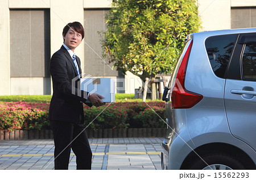
[[256, 28], [188, 35], [163, 100], [162, 169], [256, 169]]

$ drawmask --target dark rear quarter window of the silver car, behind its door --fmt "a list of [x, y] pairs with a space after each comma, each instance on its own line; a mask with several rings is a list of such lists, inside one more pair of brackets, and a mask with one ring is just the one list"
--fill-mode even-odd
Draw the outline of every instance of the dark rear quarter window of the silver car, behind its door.
[[212, 36], [205, 40], [205, 47], [217, 77], [224, 78], [237, 35]]

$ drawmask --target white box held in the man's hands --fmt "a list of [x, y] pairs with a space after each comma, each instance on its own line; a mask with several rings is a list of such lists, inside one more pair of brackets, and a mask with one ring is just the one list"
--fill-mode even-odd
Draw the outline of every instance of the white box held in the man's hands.
[[102, 95], [103, 102], [115, 102], [115, 83], [112, 78], [81, 78], [81, 90]]

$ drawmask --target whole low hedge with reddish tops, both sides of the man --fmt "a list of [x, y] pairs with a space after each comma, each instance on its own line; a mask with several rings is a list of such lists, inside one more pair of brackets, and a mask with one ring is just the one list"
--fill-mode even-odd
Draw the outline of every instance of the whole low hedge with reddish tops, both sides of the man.
[[[49, 129], [48, 102], [0, 102], [0, 129]], [[164, 102], [118, 102], [85, 106], [85, 126], [104, 128], [163, 128]]]

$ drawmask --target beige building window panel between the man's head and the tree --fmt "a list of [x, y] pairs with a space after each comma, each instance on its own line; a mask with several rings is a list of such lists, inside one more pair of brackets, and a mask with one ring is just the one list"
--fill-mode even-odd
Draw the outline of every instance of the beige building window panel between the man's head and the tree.
[[97, 77], [122, 76], [102, 57], [101, 32], [106, 31], [105, 15], [108, 9], [85, 9], [85, 73]]

